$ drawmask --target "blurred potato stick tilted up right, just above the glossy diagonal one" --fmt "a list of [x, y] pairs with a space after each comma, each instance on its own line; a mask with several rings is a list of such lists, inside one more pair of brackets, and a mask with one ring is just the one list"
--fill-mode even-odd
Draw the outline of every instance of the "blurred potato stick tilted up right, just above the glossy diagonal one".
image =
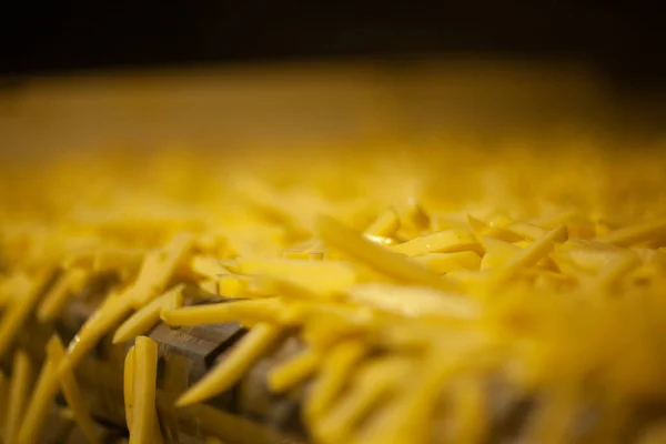
[[176, 268], [185, 260], [194, 243], [190, 233], [178, 233], [164, 248], [145, 255], [137, 282], [132, 286], [134, 307], [142, 307], [164, 292]]

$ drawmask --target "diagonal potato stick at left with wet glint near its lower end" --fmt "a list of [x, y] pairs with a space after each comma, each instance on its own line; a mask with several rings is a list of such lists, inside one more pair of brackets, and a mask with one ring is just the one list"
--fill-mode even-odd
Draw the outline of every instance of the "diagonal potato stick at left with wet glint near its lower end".
[[70, 342], [68, 353], [58, 371], [60, 373], [71, 372], [73, 367], [90, 352], [115, 325], [132, 312], [132, 300], [127, 295], [114, 296], [105, 306], [98, 309], [98, 315], [93, 315], [79, 331], [79, 334]]

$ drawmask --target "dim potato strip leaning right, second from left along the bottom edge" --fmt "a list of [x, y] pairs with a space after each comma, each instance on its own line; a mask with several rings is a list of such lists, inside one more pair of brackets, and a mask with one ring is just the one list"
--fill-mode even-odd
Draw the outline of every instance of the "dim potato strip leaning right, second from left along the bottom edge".
[[60, 389], [56, 365], [54, 360], [49, 357], [42, 366], [19, 431], [19, 444], [33, 444], [39, 440], [51, 403]]

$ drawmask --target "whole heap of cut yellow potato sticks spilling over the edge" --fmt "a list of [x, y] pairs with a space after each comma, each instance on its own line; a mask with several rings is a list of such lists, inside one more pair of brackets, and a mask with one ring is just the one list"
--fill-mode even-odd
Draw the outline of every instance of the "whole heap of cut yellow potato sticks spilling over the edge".
[[[37, 442], [60, 391], [99, 438], [74, 374], [109, 335], [135, 340], [130, 442], [162, 442], [147, 336], [160, 320], [250, 329], [176, 407], [229, 390], [295, 332], [304, 349], [269, 385], [307, 386], [316, 443], [487, 442], [492, 377], [541, 401], [526, 442], [617, 442], [636, 405], [666, 401], [659, 153], [442, 143], [213, 162], [181, 150], [8, 165], [0, 189], [4, 443]], [[52, 322], [108, 271], [121, 283], [33, 367], [12, 346], [27, 319]], [[191, 282], [220, 302], [185, 306]], [[664, 424], [643, 442], [666, 440]]]

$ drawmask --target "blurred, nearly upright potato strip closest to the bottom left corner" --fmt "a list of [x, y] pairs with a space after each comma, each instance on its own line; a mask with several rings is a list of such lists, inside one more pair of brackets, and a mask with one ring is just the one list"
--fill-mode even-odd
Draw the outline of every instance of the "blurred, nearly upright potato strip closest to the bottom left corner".
[[12, 365], [11, 385], [9, 387], [9, 402], [4, 420], [4, 443], [16, 443], [23, 420], [26, 403], [30, 396], [32, 384], [32, 362], [28, 354], [19, 350], [16, 352]]

